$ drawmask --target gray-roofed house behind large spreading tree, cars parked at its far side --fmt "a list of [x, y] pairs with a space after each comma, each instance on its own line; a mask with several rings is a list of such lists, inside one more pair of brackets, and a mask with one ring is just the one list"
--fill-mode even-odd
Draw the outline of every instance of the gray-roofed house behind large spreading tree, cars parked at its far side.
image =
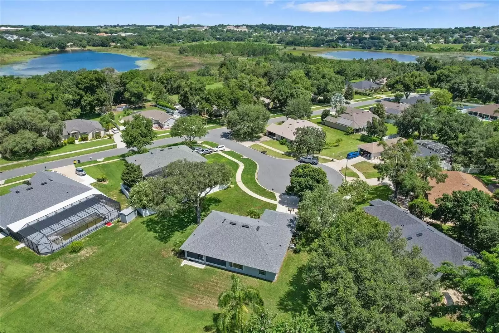
[[144, 154], [125, 157], [125, 160], [128, 163], [140, 165], [144, 178], [161, 174], [163, 168], [174, 161], [206, 162], [206, 158], [187, 146], [155, 148]]

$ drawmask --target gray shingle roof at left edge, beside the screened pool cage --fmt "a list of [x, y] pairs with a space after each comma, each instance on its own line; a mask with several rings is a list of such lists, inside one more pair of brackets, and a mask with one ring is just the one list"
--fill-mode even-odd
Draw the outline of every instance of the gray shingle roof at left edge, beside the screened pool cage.
[[[12, 187], [10, 193], [1, 196], [2, 228], [91, 190], [90, 187], [53, 171], [39, 171], [31, 177], [30, 182], [31, 185]], [[46, 184], [41, 185], [42, 183]], [[32, 189], [27, 190], [29, 187]]]

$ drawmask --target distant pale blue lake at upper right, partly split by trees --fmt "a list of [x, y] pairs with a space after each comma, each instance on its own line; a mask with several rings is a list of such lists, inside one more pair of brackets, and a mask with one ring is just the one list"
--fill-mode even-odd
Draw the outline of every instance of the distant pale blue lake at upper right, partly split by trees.
[[[352, 60], [355, 59], [384, 59], [384, 58], [392, 58], [401, 62], [415, 62], [416, 58], [419, 55], [411, 55], [411, 54], [401, 54], [401, 53], [390, 53], [390, 52], [373, 52], [373, 51], [334, 51], [334, 52], [326, 52], [317, 54], [324, 58], [330, 59], [342, 59], [342, 60]], [[435, 56], [443, 56], [440, 54], [435, 54]], [[492, 56], [475, 56], [475, 55], [464, 55], [464, 56], [451, 56], [445, 55], [446, 57], [457, 57], [464, 58], [467, 60], [472, 60], [475, 58], [481, 59], [492, 59]]]

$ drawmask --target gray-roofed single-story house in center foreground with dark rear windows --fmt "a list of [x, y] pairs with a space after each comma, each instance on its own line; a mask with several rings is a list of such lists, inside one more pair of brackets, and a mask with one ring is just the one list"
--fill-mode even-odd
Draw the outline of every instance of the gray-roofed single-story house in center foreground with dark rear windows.
[[294, 231], [293, 215], [259, 219], [212, 211], [180, 247], [186, 259], [275, 281]]

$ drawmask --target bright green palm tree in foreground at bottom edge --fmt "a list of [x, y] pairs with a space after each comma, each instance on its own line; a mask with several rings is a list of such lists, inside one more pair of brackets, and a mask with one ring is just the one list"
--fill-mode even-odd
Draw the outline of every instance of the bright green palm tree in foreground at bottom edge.
[[238, 276], [232, 275], [231, 279], [231, 290], [220, 294], [218, 299], [218, 307], [222, 313], [217, 326], [222, 333], [233, 330], [241, 333], [250, 310], [257, 314], [263, 312], [263, 300], [256, 288], [243, 285]]

